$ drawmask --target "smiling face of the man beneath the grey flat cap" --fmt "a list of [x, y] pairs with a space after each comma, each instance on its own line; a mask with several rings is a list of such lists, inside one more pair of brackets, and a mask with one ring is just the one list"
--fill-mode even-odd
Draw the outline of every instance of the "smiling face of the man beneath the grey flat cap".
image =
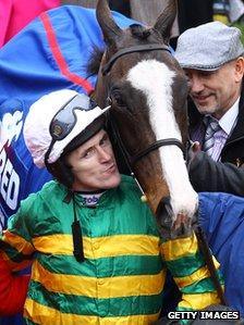
[[190, 96], [199, 113], [211, 114], [219, 120], [233, 105], [240, 96], [243, 77], [243, 62], [240, 60], [211, 72], [185, 68]]

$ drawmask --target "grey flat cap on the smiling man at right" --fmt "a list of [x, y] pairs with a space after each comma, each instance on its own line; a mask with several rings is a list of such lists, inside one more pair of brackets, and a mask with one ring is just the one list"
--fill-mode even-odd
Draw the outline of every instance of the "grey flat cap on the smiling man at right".
[[183, 68], [215, 71], [243, 53], [241, 30], [211, 22], [190, 28], [179, 37], [175, 59]]

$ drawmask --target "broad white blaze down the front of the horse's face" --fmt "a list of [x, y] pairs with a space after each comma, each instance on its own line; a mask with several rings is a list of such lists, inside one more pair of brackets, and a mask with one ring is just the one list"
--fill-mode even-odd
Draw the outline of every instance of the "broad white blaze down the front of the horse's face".
[[[151, 128], [157, 140], [182, 140], [172, 108], [172, 84], [175, 73], [156, 60], [142, 61], [132, 67], [127, 80], [147, 98]], [[197, 208], [194, 191], [185, 166], [183, 153], [176, 146], [161, 147], [161, 166], [169, 187], [174, 217], [179, 213], [192, 216]]]

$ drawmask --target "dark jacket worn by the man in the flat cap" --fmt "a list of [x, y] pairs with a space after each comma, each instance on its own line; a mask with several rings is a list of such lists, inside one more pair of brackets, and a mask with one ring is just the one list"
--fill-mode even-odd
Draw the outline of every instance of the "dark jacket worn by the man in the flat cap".
[[[190, 137], [203, 126], [203, 115], [190, 104]], [[195, 140], [192, 138], [192, 140]], [[223, 191], [244, 196], [244, 89], [239, 105], [237, 123], [227, 140], [221, 162], [199, 152], [190, 164], [190, 179], [196, 191]]]

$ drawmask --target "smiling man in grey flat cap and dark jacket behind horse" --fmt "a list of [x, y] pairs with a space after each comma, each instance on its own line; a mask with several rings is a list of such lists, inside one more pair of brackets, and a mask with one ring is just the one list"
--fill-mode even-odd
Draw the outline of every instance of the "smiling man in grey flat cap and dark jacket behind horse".
[[241, 32], [220, 22], [178, 40], [175, 59], [190, 83], [190, 136], [198, 142], [190, 163], [197, 191], [244, 196], [243, 53]]

